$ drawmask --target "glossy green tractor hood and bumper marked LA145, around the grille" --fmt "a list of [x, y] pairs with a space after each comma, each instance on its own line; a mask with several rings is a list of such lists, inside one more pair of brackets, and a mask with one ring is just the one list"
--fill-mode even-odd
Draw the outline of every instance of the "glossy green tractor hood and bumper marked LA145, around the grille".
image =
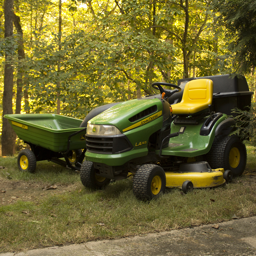
[[[148, 121], [142, 125], [140, 125], [140, 122], [141, 120], [147, 119], [146, 117], [141, 118], [135, 122], [129, 121], [129, 118], [134, 116], [136, 113], [139, 113], [154, 105], [157, 106], [157, 111], [155, 113], [159, 113], [161, 111], [161, 114], [158, 114], [157, 118], [152, 119], [152, 121]], [[146, 156], [148, 153], [147, 146], [150, 135], [163, 127], [162, 112], [163, 104], [161, 100], [143, 99], [122, 102], [95, 116], [88, 123], [115, 125], [121, 132], [124, 129], [128, 129], [123, 133], [127, 136], [134, 148], [131, 151], [122, 154], [97, 154], [87, 151], [85, 154], [86, 160], [97, 163], [104, 163], [111, 166], [118, 166], [123, 165], [131, 159]], [[156, 117], [155, 113], [152, 114], [154, 117]], [[151, 114], [149, 116], [151, 116]], [[134, 124], [137, 124], [138, 126], [129, 128]]]

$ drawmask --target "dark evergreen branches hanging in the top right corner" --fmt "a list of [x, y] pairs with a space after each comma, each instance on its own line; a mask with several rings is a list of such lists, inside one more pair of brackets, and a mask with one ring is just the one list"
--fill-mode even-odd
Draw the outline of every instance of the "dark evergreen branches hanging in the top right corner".
[[212, 8], [219, 14], [216, 28], [220, 33], [225, 29], [227, 39], [229, 54], [222, 59], [232, 65], [232, 72], [251, 73], [256, 66], [256, 2], [213, 0]]

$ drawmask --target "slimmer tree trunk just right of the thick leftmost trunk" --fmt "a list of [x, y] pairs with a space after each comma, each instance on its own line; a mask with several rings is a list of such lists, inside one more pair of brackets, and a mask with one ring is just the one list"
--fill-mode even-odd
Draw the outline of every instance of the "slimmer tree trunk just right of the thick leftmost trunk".
[[[23, 31], [20, 25], [20, 17], [13, 14], [13, 23], [19, 34], [19, 46], [18, 46], [18, 60], [25, 58], [24, 46], [23, 46]], [[17, 70], [17, 94], [16, 94], [16, 108], [15, 114], [20, 114], [21, 111], [21, 100], [22, 100], [22, 86], [23, 86], [23, 73], [22, 69]]]

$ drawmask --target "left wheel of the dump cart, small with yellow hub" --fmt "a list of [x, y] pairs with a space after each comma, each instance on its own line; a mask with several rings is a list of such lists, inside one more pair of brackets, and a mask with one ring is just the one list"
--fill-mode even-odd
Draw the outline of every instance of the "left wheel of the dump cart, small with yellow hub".
[[29, 149], [23, 149], [18, 154], [18, 168], [22, 172], [35, 172], [36, 157], [35, 154]]

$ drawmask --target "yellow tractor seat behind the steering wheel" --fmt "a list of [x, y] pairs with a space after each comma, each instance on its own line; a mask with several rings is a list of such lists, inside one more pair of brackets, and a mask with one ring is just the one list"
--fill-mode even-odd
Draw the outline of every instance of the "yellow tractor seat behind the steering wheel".
[[212, 94], [212, 80], [191, 80], [185, 85], [181, 102], [171, 105], [172, 114], [195, 115], [197, 112], [206, 112], [208, 105], [212, 103]]

